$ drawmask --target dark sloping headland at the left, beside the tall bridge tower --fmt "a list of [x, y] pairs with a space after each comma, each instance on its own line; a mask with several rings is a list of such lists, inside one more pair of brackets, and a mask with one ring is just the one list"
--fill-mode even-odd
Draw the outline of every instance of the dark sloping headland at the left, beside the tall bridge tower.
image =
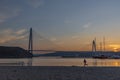
[[32, 56], [20, 47], [0, 46], [0, 58], [31, 58]]

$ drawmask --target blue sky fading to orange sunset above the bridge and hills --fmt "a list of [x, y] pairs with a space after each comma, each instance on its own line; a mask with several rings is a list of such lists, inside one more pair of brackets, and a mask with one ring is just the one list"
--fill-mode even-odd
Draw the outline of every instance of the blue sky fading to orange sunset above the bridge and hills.
[[30, 27], [60, 50], [91, 50], [95, 38], [99, 50], [105, 37], [119, 51], [120, 0], [0, 0], [1, 46], [27, 42]]

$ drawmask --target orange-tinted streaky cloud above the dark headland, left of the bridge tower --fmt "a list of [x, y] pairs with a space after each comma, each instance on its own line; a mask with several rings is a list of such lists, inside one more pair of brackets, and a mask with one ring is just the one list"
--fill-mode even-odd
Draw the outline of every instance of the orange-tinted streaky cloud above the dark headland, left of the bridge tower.
[[25, 33], [26, 33], [25, 29], [21, 29], [18, 31], [12, 29], [2, 30], [0, 32], [0, 43], [4, 44], [16, 40], [26, 40], [27, 35]]

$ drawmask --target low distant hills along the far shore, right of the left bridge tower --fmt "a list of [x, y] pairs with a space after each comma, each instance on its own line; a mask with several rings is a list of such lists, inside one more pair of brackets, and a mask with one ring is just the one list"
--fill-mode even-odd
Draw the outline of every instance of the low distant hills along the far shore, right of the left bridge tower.
[[119, 55], [120, 52], [92, 52], [92, 51], [57, 51], [54, 53], [47, 53], [47, 54], [38, 54], [35, 56], [47, 56], [47, 57], [81, 57], [81, 58], [91, 58], [94, 55]]

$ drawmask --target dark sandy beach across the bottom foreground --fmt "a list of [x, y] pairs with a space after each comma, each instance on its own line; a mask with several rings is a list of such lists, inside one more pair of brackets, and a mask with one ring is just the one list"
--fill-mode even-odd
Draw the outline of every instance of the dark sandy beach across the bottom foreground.
[[120, 67], [0, 66], [0, 80], [120, 80]]

